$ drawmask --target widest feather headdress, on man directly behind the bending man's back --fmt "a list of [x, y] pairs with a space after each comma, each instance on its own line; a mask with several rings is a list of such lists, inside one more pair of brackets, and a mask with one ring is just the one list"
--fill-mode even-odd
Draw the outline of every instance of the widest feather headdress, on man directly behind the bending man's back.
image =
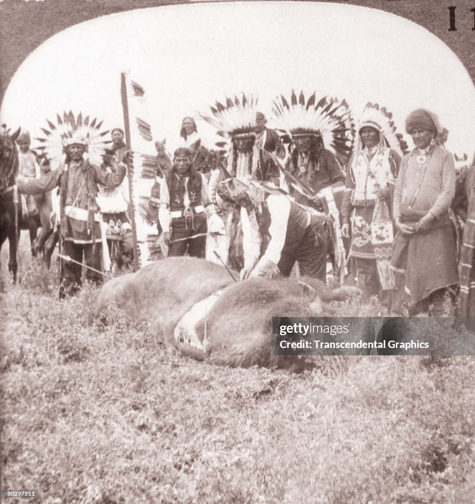
[[297, 97], [292, 91], [290, 100], [283, 95], [273, 102], [273, 113], [278, 129], [290, 137], [311, 135], [321, 138], [326, 149], [345, 162], [352, 151], [355, 137], [353, 118], [347, 102], [321, 97], [313, 93], [306, 99], [303, 92]]

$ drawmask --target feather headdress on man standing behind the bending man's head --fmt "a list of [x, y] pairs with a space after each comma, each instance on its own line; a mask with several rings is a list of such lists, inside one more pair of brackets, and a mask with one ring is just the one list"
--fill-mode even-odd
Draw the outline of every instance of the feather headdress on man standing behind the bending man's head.
[[216, 101], [210, 107], [213, 115], [199, 114], [225, 138], [250, 137], [256, 126], [257, 96], [243, 93], [242, 97], [226, 98], [223, 105]]

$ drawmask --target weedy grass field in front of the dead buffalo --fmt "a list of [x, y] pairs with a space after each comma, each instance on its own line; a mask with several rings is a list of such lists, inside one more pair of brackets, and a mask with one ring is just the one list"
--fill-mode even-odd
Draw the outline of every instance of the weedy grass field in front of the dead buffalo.
[[[59, 302], [25, 235], [12, 286], [7, 251], [3, 488], [47, 504], [475, 501], [474, 358], [213, 367], [118, 310], [96, 321], [92, 286]], [[377, 310], [353, 299], [341, 315]]]

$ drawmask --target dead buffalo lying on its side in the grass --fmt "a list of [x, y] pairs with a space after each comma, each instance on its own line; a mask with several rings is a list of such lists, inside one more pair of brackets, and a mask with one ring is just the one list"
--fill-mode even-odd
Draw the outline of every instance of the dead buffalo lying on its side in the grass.
[[170, 258], [108, 281], [96, 314], [100, 317], [115, 303], [199, 360], [231, 367], [295, 367], [302, 359], [273, 355], [272, 318], [328, 315], [325, 302], [355, 292], [355, 287], [329, 290], [311, 279], [235, 283], [211, 262]]

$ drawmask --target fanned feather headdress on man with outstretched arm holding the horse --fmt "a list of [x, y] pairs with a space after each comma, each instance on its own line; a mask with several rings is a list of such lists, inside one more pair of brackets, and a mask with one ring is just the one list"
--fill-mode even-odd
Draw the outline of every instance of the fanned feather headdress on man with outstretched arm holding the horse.
[[48, 119], [46, 122], [48, 128], [41, 128], [45, 137], [35, 140], [40, 142], [37, 148], [40, 151], [39, 157], [49, 160], [53, 169], [61, 162], [64, 149], [73, 144], [84, 145], [91, 163], [102, 164], [107, 144], [110, 143], [104, 140], [109, 132], [100, 131], [103, 121], [98, 121], [96, 118], [90, 120], [89, 115], [83, 119], [81, 112], [75, 117], [70, 111], [64, 112], [62, 118], [56, 114], [57, 124]]

